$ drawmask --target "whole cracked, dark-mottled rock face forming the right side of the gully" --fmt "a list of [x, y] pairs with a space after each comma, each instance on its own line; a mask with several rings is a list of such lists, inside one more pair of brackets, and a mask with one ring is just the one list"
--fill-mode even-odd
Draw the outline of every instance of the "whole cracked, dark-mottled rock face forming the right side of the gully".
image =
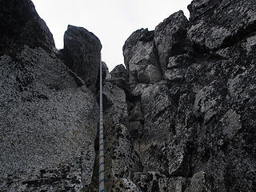
[[138, 49], [148, 32], [127, 39], [129, 131], [143, 166], [130, 180], [139, 190], [256, 190], [255, 5], [198, 0], [190, 21], [178, 11], [160, 23], [151, 32], [159, 82], [132, 76], [130, 61], [151, 51]]

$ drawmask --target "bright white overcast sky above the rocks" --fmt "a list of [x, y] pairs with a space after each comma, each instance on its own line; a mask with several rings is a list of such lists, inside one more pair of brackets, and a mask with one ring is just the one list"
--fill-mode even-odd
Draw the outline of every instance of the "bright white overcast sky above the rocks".
[[123, 64], [122, 46], [135, 30], [154, 27], [178, 10], [187, 18], [192, 0], [32, 0], [38, 14], [63, 47], [67, 26], [82, 26], [102, 42], [102, 61], [112, 70]]

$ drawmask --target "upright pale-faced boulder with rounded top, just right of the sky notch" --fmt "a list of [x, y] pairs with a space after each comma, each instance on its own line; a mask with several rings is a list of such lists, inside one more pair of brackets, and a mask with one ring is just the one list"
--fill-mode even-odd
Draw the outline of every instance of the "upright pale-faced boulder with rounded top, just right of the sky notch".
[[154, 31], [135, 31], [123, 46], [126, 69], [131, 83], [154, 83], [162, 78], [154, 49]]

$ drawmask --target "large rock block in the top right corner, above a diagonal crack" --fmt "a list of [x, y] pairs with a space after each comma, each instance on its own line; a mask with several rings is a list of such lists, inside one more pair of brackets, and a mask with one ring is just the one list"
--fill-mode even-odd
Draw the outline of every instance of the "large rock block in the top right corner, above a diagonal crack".
[[197, 0], [188, 9], [192, 26], [187, 37], [201, 50], [231, 46], [256, 29], [254, 0]]

